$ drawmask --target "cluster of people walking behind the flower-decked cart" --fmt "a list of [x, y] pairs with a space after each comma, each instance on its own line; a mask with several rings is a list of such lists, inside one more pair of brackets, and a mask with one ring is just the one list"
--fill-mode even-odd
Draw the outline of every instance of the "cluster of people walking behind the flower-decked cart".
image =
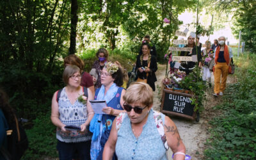
[[[226, 87], [226, 81], [228, 73], [231, 72], [231, 61], [232, 61], [232, 49], [225, 44], [225, 36], [215, 39], [214, 43], [211, 44], [209, 40], [205, 42], [205, 49], [201, 50], [202, 44], [199, 42], [199, 38], [189, 35], [188, 45], [182, 47], [192, 47], [192, 51], [181, 51], [179, 56], [196, 56], [195, 61], [181, 61], [180, 68], [175, 68], [172, 60], [172, 52], [169, 52], [169, 63], [170, 72], [176, 70], [182, 70], [189, 74], [193, 71], [196, 63], [198, 67], [202, 68], [202, 80], [205, 84], [208, 83], [211, 86], [211, 74], [214, 73], [214, 93], [213, 95], [218, 97], [223, 95]], [[197, 44], [197, 45], [196, 45]], [[197, 48], [196, 48], [197, 47]]]

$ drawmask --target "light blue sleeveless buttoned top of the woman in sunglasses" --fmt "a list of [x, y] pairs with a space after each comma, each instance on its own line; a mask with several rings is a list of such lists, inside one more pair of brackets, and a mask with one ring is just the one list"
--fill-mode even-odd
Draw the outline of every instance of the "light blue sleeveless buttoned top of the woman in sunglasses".
[[[164, 119], [164, 116], [163, 116]], [[129, 116], [125, 116], [116, 141], [116, 155], [118, 159], [166, 159], [161, 136], [157, 131], [153, 117], [153, 109], [150, 110], [147, 123], [137, 139], [131, 127]]]

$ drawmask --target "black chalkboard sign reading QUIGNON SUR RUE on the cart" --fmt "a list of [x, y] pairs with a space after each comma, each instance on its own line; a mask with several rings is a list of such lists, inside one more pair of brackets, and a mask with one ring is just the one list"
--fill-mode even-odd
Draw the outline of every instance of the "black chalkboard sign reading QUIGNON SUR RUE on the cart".
[[195, 119], [194, 107], [189, 93], [163, 90], [161, 112]]

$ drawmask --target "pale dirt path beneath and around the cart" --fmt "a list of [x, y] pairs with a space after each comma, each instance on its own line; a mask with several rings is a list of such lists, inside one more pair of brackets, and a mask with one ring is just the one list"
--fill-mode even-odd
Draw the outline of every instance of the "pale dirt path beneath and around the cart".
[[[154, 92], [154, 106], [153, 108], [156, 111], [160, 111], [161, 107], [161, 81], [165, 76], [165, 65], [159, 65], [159, 69], [156, 72], [157, 82], [156, 86], [158, 86], [158, 90]], [[212, 84], [214, 77], [212, 75]], [[236, 79], [232, 76], [228, 76], [227, 84], [234, 83]], [[212, 85], [213, 86], [213, 85]], [[207, 134], [207, 128], [210, 126], [208, 125], [209, 120], [216, 115], [212, 111], [212, 107], [216, 106], [221, 102], [221, 98], [215, 98], [212, 96], [213, 87], [209, 88], [206, 92], [206, 100], [204, 102], [205, 110], [200, 115], [200, 121], [196, 122], [195, 120], [187, 120], [186, 118], [178, 117], [178, 116], [170, 116], [172, 118], [175, 125], [180, 133], [180, 137], [183, 140], [184, 145], [186, 146], [186, 154], [191, 156], [192, 159], [204, 159], [204, 143], [209, 136]], [[168, 159], [172, 159], [172, 150], [168, 150]]]

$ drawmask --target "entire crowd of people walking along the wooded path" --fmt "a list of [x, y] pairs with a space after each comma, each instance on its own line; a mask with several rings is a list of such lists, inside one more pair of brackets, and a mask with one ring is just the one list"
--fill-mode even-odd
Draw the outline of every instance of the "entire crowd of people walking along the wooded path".
[[[202, 68], [202, 79], [209, 84], [214, 71], [214, 96], [223, 95], [232, 50], [225, 45], [224, 36], [212, 45], [206, 41], [202, 52], [199, 38], [196, 40], [197, 43], [195, 37], [188, 36], [188, 45], [182, 47], [193, 49], [180, 52], [180, 56], [195, 55], [197, 62], [180, 65], [193, 68], [197, 63]], [[143, 39], [136, 59], [136, 82], [129, 88], [126, 88], [127, 72], [118, 61], [108, 61], [108, 55], [106, 49], [99, 49], [90, 73], [84, 71], [84, 61], [75, 54], [64, 59], [65, 87], [54, 93], [51, 106], [60, 159], [166, 159], [169, 147], [174, 159], [184, 159], [186, 148], [177, 127], [168, 116], [152, 109], [157, 53], [150, 36]], [[172, 64], [171, 52], [170, 69], [177, 70]], [[4, 94], [0, 95], [2, 99]], [[102, 114], [93, 111], [90, 100], [105, 100]], [[1, 102], [1, 146], [6, 146], [4, 131], [12, 118], [5, 119], [3, 112], [12, 110], [6, 110], [4, 105]]]

